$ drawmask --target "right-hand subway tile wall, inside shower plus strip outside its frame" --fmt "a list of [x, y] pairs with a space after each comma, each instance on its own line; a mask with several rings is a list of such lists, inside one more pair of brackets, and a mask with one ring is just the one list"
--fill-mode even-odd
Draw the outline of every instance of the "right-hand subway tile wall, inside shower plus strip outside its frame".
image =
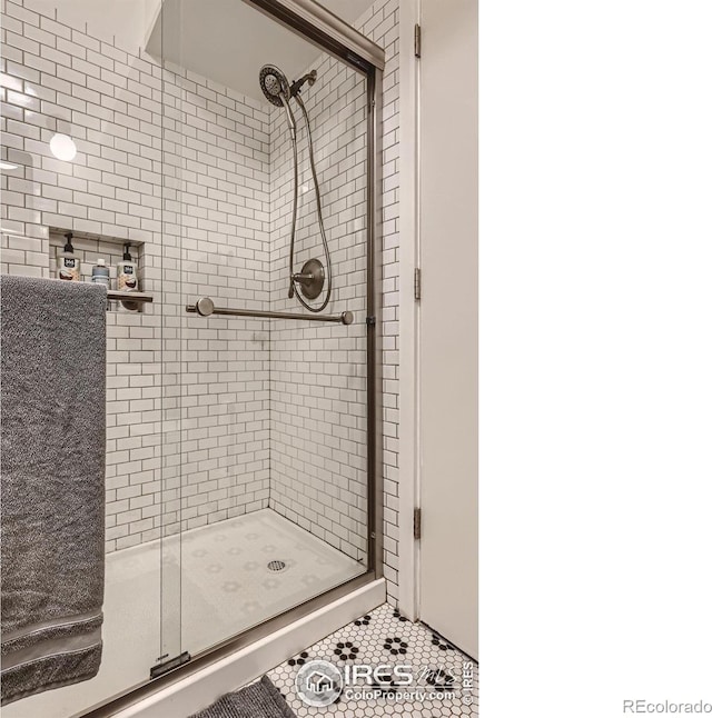
[[[384, 72], [384, 473], [385, 575], [397, 601], [397, 126], [398, 3], [377, 2], [356, 23], [386, 49]], [[332, 252], [332, 312], [350, 310], [345, 328], [271, 328], [270, 507], [348, 556], [367, 550], [366, 226], [367, 96], [356, 71], [323, 54], [303, 98], [312, 122], [324, 225]], [[304, 118], [298, 154], [299, 220], [295, 269], [324, 259]], [[271, 110], [271, 303], [285, 310], [289, 273], [293, 149], [284, 112]], [[314, 302], [313, 302], [314, 303]]]

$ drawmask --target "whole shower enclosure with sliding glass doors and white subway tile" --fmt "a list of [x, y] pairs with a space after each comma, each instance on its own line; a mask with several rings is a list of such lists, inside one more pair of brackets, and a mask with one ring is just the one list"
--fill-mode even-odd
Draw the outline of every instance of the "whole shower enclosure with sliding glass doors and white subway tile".
[[3, 6], [2, 271], [55, 278], [71, 231], [82, 279], [128, 243], [140, 282], [107, 312], [102, 667], [7, 718], [100, 715], [382, 575], [383, 51], [309, 0], [115, 4]]

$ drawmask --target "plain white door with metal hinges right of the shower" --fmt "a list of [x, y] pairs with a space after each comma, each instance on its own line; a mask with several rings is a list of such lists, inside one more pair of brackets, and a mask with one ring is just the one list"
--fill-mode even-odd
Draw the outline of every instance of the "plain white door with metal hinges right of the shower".
[[421, 618], [477, 657], [477, 1], [422, 0]]

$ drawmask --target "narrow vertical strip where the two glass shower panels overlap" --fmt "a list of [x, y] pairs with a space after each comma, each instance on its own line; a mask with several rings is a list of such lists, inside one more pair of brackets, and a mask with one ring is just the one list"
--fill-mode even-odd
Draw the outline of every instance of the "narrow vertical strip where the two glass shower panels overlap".
[[156, 678], [189, 660], [182, 636], [182, 562], [186, 530], [187, 419], [190, 406], [190, 359], [185, 341], [184, 275], [186, 261], [185, 188], [187, 173], [187, 122], [185, 72], [180, 69], [182, 2], [162, 2], [147, 42], [147, 51], [160, 58], [160, 177], [161, 243], [160, 273], [162, 321], [161, 437], [161, 539], [160, 539], [160, 656], [151, 667]]

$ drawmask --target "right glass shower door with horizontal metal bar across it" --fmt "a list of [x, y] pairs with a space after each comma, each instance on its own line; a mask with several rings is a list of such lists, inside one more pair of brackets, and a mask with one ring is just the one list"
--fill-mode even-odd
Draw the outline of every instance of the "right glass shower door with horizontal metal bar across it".
[[[368, 570], [368, 93], [246, 2], [164, 2], [160, 27], [161, 626], [178, 659]], [[266, 66], [296, 83], [296, 181]], [[290, 268], [320, 267], [320, 293], [289, 297]]]

